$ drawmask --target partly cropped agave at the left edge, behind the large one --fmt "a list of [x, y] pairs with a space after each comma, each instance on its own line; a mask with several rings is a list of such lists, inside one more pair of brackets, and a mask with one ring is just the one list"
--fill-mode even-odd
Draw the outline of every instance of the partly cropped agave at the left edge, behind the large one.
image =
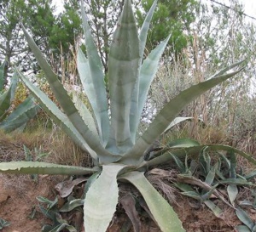
[[14, 130], [22, 131], [26, 123], [38, 113], [39, 105], [35, 104], [35, 99], [28, 96], [10, 114], [12, 101], [15, 98], [15, 90], [19, 76], [14, 73], [8, 90], [4, 89], [4, 70], [5, 62], [0, 66], [0, 129], [9, 133]]

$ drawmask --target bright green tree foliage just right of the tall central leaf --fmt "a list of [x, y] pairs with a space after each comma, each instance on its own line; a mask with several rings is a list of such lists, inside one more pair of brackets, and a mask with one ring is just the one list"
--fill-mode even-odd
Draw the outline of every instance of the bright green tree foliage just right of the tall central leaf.
[[[153, 0], [142, 0], [137, 8], [137, 19], [142, 26], [145, 12], [148, 12]], [[151, 50], [160, 41], [172, 34], [169, 48], [179, 53], [187, 47], [189, 26], [195, 21], [196, 0], [160, 0], [153, 15], [152, 26], [148, 31], [147, 49]]]

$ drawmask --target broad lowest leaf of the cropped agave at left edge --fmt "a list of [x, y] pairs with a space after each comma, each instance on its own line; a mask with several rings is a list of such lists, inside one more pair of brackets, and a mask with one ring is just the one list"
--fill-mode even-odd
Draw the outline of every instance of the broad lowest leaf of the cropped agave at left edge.
[[39, 109], [32, 96], [27, 97], [3, 122], [0, 122], [0, 129], [9, 133], [23, 125], [26, 126], [26, 122], [36, 116]]

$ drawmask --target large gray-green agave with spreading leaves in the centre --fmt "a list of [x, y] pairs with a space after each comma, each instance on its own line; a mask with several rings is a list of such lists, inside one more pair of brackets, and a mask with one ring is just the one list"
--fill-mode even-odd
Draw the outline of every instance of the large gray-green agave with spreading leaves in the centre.
[[[39, 161], [15, 161], [0, 163], [0, 172], [65, 175], [99, 173], [97, 178], [92, 181], [84, 199], [84, 228], [86, 232], [103, 232], [108, 229], [108, 224], [118, 203], [118, 184], [127, 181], [133, 184], [143, 195], [161, 231], [184, 231], [176, 212], [144, 176], [144, 172], [151, 165], [171, 160], [172, 157], [166, 153], [160, 153], [159, 156], [146, 161], [144, 159], [145, 153], [161, 133], [165, 133], [166, 129], [170, 129], [170, 125], [175, 124], [174, 120], [184, 106], [200, 96], [201, 93], [205, 93], [208, 89], [224, 82], [240, 71], [226, 73], [237, 65], [241, 65], [241, 62], [238, 62], [218, 71], [206, 82], [201, 82], [179, 93], [160, 110], [146, 132], [140, 136], [138, 127], [143, 105], [147, 98], [150, 83], [157, 71], [161, 54], [169, 40], [167, 37], [166, 40], [160, 42], [143, 60], [149, 22], [155, 6], [156, 1], [150, 8], [138, 34], [131, 0], [125, 0], [123, 12], [113, 34], [113, 42], [110, 47], [108, 83], [104, 82], [105, 76], [102, 72], [101, 59], [82, 7], [87, 57], [79, 49], [77, 63], [84, 93], [90, 101], [92, 110], [89, 110], [78, 100], [73, 103], [61, 85], [58, 76], [51, 70], [38, 46], [23, 27], [26, 40], [44, 71], [62, 110], [18, 71], [20, 79], [55, 122], [74, 142], [88, 151], [95, 167], [72, 167]], [[107, 84], [110, 106], [106, 91]], [[183, 120], [179, 118], [177, 122]], [[188, 147], [188, 145], [183, 144], [183, 147]]]

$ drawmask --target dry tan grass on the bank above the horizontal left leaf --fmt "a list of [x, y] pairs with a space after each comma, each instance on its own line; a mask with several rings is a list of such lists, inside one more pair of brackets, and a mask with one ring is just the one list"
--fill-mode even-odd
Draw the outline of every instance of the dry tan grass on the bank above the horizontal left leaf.
[[47, 153], [44, 161], [53, 163], [90, 167], [90, 156], [74, 144], [67, 135], [61, 132], [59, 127], [49, 129], [38, 127], [24, 133], [0, 132], [0, 159], [1, 161], [24, 161], [25, 145], [32, 152], [32, 159], [38, 159], [38, 155]]

